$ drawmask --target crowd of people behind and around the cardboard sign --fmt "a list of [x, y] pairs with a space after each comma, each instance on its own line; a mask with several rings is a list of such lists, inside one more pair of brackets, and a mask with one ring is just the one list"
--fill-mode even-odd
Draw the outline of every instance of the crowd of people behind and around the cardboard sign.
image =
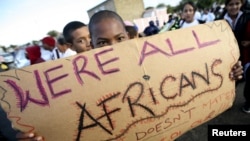
[[[244, 96], [246, 103], [242, 110], [245, 113], [250, 113], [250, 68], [248, 67], [250, 66], [250, 60], [248, 60], [250, 20], [247, 10], [242, 9], [243, 4], [243, 0], [226, 0], [226, 11], [224, 12], [224, 16], [221, 16], [221, 19], [228, 21], [239, 44], [240, 59], [230, 70], [229, 77], [237, 82], [240, 81], [243, 78], [244, 67], [244, 80], [246, 81]], [[172, 24], [171, 28], [178, 29], [201, 24], [198, 19], [195, 19], [195, 12], [195, 5], [192, 2], [187, 2], [182, 9], [183, 18], [178, 21], [179, 25]], [[71, 21], [65, 25], [62, 31], [63, 34], [57, 39], [45, 37], [41, 39], [41, 45], [27, 47], [26, 57], [30, 60], [31, 65], [33, 65], [161, 32], [164, 31], [157, 28], [153, 22], [150, 22], [150, 27], [146, 28], [144, 34], [141, 35], [137, 32], [135, 26], [126, 24], [117, 13], [103, 10], [95, 13], [90, 18], [88, 25], [80, 21]], [[0, 140], [44, 140], [42, 136], [35, 133], [24, 133], [14, 129], [2, 108], [0, 108], [0, 119]]]

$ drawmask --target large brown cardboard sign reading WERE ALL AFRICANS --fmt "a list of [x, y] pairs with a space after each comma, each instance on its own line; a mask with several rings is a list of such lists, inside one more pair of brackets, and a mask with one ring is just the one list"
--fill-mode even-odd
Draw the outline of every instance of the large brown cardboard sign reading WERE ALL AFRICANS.
[[232, 106], [238, 57], [216, 21], [0, 73], [0, 102], [47, 141], [173, 140]]

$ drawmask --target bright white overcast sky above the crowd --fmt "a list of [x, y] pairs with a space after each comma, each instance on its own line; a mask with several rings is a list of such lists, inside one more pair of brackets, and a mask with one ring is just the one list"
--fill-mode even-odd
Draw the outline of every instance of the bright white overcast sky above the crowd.
[[[105, 0], [0, 0], [0, 45], [40, 40], [51, 30], [61, 32], [70, 21], [89, 22], [87, 10]], [[180, 0], [143, 0], [144, 7]]]

